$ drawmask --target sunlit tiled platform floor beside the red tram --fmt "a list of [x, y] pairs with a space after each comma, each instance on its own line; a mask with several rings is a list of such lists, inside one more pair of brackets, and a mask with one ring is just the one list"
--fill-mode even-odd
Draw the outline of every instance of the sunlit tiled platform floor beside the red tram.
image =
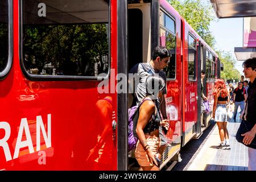
[[240, 119], [228, 123], [230, 150], [221, 150], [218, 127], [215, 125], [213, 131], [204, 142], [203, 147], [193, 159], [188, 171], [247, 171], [248, 154], [247, 147], [238, 143], [236, 132], [240, 126]]

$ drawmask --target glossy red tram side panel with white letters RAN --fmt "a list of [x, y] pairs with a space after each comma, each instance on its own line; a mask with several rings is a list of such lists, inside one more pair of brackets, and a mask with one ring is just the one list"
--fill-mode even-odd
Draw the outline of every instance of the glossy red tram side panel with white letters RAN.
[[[8, 148], [0, 147], [0, 169], [7, 170], [116, 170], [117, 136], [112, 121], [117, 121], [117, 93], [99, 94], [98, 81], [30, 81], [19, 63], [19, 1], [14, 1], [13, 66], [5, 80], [0, 81], [1, 120], [10, 125]], [[111, 68], [117, 69], [117, 2], [111, 1]], [[109, 84], [115, 85], [113, 72]], [[112, 104], [102, 100], [109, 96]], [[50, 117], [50, 118], [49, 118]], [[23, 119], [22, 119], [23, 118]], [[46, 144], [40, 118], [50, 145]], [[20, 126], [23, 121], [25, 127]], [[51, 121], [49, 126], [48, 121]], [[28, 126], [28, 130], [25, 130]], [[18, 139], [19, 129], [22, 139]], [[22, 130], [23, 129], [23, 130]], [[9, 131], [8, 131], [9, 132]], [[40, 133], [40, 137], [36, 133]], [[95, 149], [97, 137], [105, 132], [104, 147]], [[0, 138], [6, 132], [0, 129]], [[114, 136], [114, 137], [113, 137]], [[31, 143], [23, 143], [30, 141]], [[36, 141], [40, 138], [40, 144]], [[45, 137], [47, 139], [47, 137]], [[103, 138], [103, 137], [102, 137]], [[18, 145], [17, 143], [21, 143]], [[18, 147], [20, 146], [20, 148]], [[32, 146], [29, 148], [28, 146]], [[40, 147], [37, 151], [36, 147]], [[15, 158], [15, 148], [16, 155]], [[89, 157], [89, 152], [92, 154]], [[10, 159], [10, 158], [9, 158]], [[88, 159], [88, 160], [86, 160]], [[8, 160], [8, 161], [6, 161]]]

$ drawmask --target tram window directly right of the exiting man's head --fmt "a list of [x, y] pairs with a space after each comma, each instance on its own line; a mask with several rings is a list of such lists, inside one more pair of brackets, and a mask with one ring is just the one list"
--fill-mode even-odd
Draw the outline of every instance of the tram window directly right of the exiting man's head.
[[176, 76], [176, 37], [170, 32], [160, 28], [160, 46], [165, 46], [171, 52], [171, 58], [168, 66], [164, 68], [166, 77], [175, 79]]

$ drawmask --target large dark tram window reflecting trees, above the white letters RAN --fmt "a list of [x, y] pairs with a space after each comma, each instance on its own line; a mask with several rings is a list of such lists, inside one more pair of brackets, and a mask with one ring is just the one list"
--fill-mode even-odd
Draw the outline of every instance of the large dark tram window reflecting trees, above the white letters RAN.
[[23, 63], [30, 75], [97, 77], [109, 70], [109, 1], [23, 0]]

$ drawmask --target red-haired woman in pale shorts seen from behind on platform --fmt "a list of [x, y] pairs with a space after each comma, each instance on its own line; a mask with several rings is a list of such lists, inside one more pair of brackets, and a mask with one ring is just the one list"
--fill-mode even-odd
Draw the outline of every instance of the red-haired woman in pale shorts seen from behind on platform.
[[229, 93], [223, 80], [217, 79], [215, 81], [213, 96], [213, 118], [217, 122], [218, 133], [221, 139], [221, 143], [217, 148], [230, 149], [229, 133], [227, 129], [228, 115], [226, 111], [227, 106], [229, 107]]

